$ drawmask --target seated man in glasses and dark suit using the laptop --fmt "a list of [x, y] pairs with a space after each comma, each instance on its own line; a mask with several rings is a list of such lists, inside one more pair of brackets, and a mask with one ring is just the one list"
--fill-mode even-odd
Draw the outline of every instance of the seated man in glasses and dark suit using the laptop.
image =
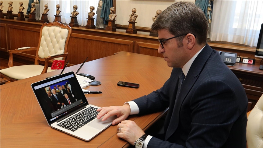
[[[160, 147], [246, 147], [247, 97], [233, 72], [207, 44], [207, 20], [190, 2], [177, 2], [153, 23], [158, 52], [173, 67], [162, 88], [123, 106], [102, 107], [97, 118], [117, 119], [117, 136], [132, 145]], [[128, 115], [149, 114], [167, 107], [164, 133], [146, 135]], [[121, 122], [121, 123], [120, 123]]]

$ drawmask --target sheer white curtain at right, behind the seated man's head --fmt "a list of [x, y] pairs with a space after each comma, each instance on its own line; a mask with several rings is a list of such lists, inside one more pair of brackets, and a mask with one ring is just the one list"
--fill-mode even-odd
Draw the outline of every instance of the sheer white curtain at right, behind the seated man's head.
[[212, 11], [211, 41], [257, 46], [263, 1], [215, 0]]

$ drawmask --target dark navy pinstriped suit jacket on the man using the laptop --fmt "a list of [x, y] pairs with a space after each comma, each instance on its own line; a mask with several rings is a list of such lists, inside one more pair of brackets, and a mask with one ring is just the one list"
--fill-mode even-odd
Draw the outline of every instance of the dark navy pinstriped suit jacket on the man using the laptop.
[[[162, 88], [135, 99], [140, 113], [169, 107], [165, 141], [152, 147], [246, 147], [247, 96], [233, 72], [208, 44], [195, 58], [174, 104], [181, 68], [174, 68]], [[170, 126], [169, 126], [170, 125]]]

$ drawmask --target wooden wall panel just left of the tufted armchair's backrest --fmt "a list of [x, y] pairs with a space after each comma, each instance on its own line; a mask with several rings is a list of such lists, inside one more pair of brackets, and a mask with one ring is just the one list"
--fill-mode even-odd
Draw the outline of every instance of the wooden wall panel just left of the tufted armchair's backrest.
[[[37, 47], [40, 36], [39, 28], [8, 25], [10, 49], [21, 47]], [[36, 51], [25, 51], [23, 53], [36, 55]]]

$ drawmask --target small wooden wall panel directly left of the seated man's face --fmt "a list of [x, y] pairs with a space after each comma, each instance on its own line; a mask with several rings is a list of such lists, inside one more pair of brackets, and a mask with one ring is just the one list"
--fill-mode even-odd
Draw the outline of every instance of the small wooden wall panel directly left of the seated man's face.
[[134, 51], [135, 53], [163, 58], [163, 55], [158, 53], [159, 44], [151, 44], [151, 43], [143, 43], [143, 42], [136, 42], [136, 43], [137, 46]]

